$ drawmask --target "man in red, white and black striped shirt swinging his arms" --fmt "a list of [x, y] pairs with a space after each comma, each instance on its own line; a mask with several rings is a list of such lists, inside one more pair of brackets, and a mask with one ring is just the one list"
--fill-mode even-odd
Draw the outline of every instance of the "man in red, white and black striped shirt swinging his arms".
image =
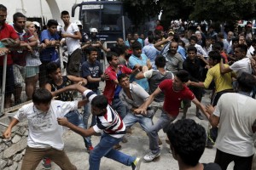
[[126, 132], [125, 123], [122, 121], [119, 114], [113, 111], [111, 106], [108, 105], [108, 99], [103, 95], [96, 95], [90, 89], [84, 88], [78, 84], [74, 86], [89, 100], [91, 112], [96, 116], [96, 125], [89, 129], [84, 129], [68, 122], [66, 117], [58, 117], [58, 122], [60, 125], [69, 127], [75, 133], [79, 133], [85, 137], [95, 133], [102, 133], [100, 143], [90, 151], [90, 170], [100, 169], [100, 162], [103, 156], [119, 161], [126, 166], [131, 166], [133, 170], [138, 170], [142, 159], [135, 156], [127, 156], [118, 150], [113, 150], [113, 145], [119, 144]]

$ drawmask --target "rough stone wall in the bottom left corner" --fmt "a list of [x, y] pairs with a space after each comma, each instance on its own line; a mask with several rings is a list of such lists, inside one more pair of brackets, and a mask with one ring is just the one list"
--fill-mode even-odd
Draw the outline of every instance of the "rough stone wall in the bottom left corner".
[[[2, 124], [3, 125], [3, 124]], [[3, 132], [1, 132], [3, 133]], [[0, 137], [0, 169], [16, 170], [25, 154], [28, 135], [27, 122], [20, 122], [12, 129], [9, 139]]]

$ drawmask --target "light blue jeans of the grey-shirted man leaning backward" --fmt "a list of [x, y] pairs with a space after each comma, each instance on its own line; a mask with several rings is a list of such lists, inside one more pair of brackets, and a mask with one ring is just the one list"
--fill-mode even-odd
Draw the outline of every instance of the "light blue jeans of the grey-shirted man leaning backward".
[[[125, 123], [126, 128], [131, 127], [132, 125], [138, 122], [140, 123], [141, 127], [143, 127], [143, 130], [146, 133], [149, 133], [150, 127], [154, 125], [151, 118], [144, 117], [144, 116], [135, 116], [131, 112], [128, 112], [123, 122]], [[154, 146], [150, 145], [150, 143], [149, 143], [149, 149], [154, 150]]]

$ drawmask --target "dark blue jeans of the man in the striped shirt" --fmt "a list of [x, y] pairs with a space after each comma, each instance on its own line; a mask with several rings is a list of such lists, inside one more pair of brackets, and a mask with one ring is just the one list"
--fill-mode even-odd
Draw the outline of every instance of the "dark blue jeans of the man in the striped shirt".
[[118, 150], [113, 150], [113, 145], [119, 144], [121, 140], [122, 138], [116, 139], [106, 133], [103, 133], [100, 143], [90, 151], [89, 169], [100, 169], [100, 163], [103, 156], [113, 159], [114, 161], [119, 161], [126, 166], [131, 166], [131, 163], [136, 160], [135, 156], [127, 156]]

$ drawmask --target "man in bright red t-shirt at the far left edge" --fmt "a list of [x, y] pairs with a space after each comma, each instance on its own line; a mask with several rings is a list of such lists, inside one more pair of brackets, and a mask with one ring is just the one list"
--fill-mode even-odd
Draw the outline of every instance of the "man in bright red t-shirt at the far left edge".
[[[12, 26], [5, 23], [7, 17], [7, 8], [0, 4], [0, 41], [4, 38], [12, 38], [15, 40], [13, 44], [15, 47], [20, 46], [20, 40]], [[0, 85], [2, 86], [3, 81], [3, 54], [9, 53], [9, 46], [5, 48], [0, 48]], [[6, 84], [5, 84], [5, 97], [4, 97], [4, 107], [8, 108], [11, 106], [11, 95], [14, 90], [15, 77], [13, 71], [13, 59], [10, 54], [7, 56], [7, 69], [6, 69]]]

